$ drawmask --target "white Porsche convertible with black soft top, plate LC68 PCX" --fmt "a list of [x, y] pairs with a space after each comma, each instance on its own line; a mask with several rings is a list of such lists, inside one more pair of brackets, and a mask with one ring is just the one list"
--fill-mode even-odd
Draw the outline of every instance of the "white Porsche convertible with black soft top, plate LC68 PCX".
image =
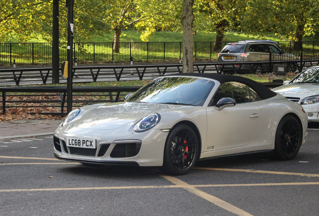
[[74, 109], [54, 133], [54, 155], [181, 175], [220, 156], [272, 151], [292, 159], [306, 134], [302, 106], [251, 79], [181, 73], [150, 81], [124, 102]]

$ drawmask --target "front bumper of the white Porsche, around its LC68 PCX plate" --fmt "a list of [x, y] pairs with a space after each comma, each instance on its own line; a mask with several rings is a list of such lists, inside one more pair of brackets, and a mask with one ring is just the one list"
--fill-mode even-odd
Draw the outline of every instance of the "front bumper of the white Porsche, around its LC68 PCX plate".
[[[167, 135], [160, 129], [135, 133], [129, 126], [109, 130], [59, 126], [54, 134], [54, 155], [81, 163], [162, 166]], [[67, 146], [68, 137], [96, 139], [96, 148]]]

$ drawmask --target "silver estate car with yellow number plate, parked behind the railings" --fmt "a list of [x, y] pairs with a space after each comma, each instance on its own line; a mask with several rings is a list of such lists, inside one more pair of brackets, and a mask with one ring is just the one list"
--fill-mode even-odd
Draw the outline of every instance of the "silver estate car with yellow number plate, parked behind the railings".
[[[218, 62], [243, 62], [243, 61], [269, 61], [269, 53], [271, 53], [272, 60], [294, 60], [296, 57], [293, 54], [285, 53], [275, 41], [271, 40], [245, 40], [238, 42], [231, 42], [225, 45], [222, 51], [218, 54]], [[241, 70], [245, 72], [266, 72], [267, 65], [262, 64], [227, 64], [220, 65], [219, 68], [223, 71]]]

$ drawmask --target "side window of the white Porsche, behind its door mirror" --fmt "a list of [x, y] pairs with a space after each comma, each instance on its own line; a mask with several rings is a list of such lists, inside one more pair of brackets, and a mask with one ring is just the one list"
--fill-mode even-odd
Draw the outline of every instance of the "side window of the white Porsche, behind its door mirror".
[[212, 105], [223, 97], [231, 97], [236, 103], [254, 102], [262, 98], [252, 88], [240, 82], [225, 82], [217, 90]]

